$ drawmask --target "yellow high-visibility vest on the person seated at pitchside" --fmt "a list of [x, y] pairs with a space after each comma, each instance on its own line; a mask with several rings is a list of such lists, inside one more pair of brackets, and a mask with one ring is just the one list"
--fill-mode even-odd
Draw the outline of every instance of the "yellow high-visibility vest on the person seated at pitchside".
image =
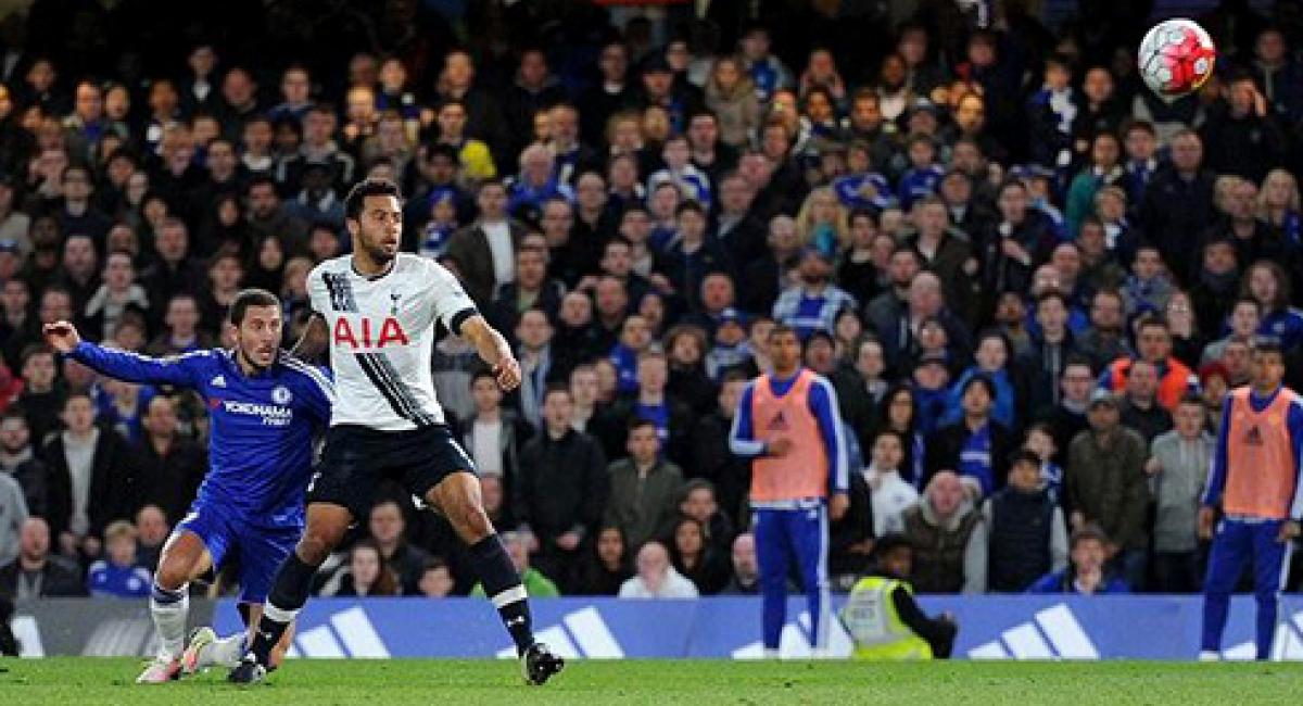
[[851, 589], [840, 617], [855, 641], [855, 659], [932, 659], [932, 646], [896, 614], [891, 602], [896, 587], [913, 594], [909, 584], [882, 576], [866, 576]]

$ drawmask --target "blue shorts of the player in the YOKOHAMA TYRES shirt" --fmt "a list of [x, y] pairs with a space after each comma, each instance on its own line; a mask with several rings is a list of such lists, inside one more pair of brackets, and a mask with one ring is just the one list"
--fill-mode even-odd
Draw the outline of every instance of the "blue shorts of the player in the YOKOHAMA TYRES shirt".
[[294, 551], [304, 528], [259, 528], [246, 517], [212, 503], [195, 501], [190, 513], [176, 525], [198, 537], [212, 556], [214, 569], [228, 558], [238, 558], [240, 602], [263, 603], [276, 580], [280, 563]]

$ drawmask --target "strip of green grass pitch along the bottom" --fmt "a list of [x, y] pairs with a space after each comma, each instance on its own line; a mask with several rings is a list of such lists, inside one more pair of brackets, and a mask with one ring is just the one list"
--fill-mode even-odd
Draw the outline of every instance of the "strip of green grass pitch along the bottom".
[[52, 658], [0, 662], [0, 703], [689, 703], [985, 705], [1299, 703], [1303, 666], [1154, 662], [865, 664], [855, 662], [573, 662], [542, 688], [513, 662], [292, 662], [266, 684], [236, 688], [224, 672], [137, 686], [141, 662]]

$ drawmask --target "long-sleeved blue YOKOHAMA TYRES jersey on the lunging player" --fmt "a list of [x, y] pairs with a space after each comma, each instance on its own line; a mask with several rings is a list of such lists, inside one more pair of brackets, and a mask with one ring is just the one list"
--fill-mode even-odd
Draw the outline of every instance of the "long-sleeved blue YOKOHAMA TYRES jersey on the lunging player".
[[304, 524], [313, 442], [330, 425], [335, 392], [326, 371], [281, 352], [245, 375], [231, 350], [150, 358], [77, 344], [72, 357], [104, 375], [197, 391], [208, 406], [208, 474], [195, 505], [229, 512], [253, 526]]

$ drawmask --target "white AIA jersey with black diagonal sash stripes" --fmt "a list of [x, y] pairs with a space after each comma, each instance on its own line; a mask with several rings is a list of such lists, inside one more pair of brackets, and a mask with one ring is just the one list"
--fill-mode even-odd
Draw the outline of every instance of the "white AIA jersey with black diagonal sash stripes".
[[341, 255], [313, 268], [308, 293], [330, 337], [331, 426], [404, 431], [444, 422], [430, 375], [435, 322], [459, 331], [476, 314], [451, 272], [399, 253], [387, 274], [366, 277]]

